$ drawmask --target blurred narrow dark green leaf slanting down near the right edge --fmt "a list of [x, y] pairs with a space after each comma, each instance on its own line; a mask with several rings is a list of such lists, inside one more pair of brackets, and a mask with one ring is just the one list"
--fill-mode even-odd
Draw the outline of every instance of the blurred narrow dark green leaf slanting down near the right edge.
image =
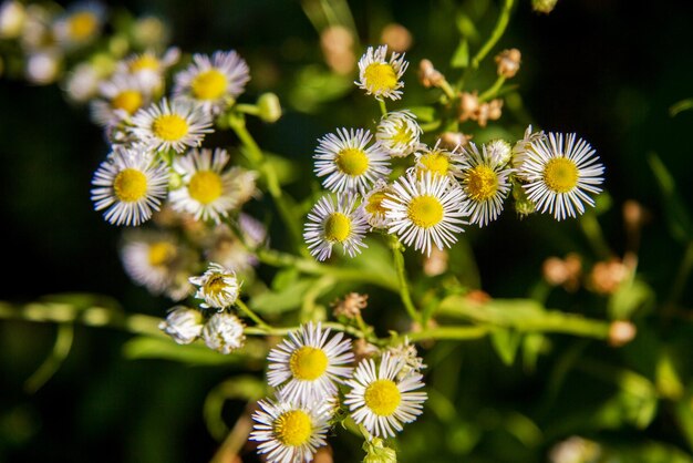
[[655, 153], [650, 153], [648, 161], [662, 194], [666, 222], [672, 236], [682, 243], [690, 241], [693, 239], [693, 223], [676, 193], [674, 177]]

